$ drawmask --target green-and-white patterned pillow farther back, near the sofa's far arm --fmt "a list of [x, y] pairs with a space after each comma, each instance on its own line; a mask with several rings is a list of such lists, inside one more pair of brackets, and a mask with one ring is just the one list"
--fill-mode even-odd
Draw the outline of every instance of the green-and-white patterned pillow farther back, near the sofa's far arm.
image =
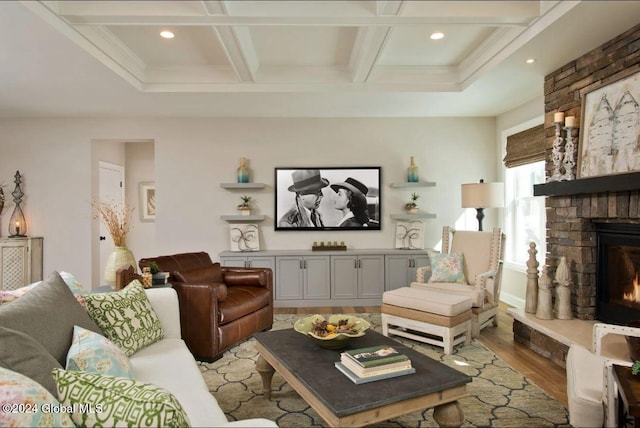
[[86, 302], [91, 319], [127, 357], [164, 337], [162, 324], [138, 280], [118, 292], [89, 294]]

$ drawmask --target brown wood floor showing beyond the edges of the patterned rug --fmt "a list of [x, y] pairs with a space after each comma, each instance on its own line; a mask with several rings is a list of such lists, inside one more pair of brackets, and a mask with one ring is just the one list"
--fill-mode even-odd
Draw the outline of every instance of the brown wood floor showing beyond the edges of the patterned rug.
[[[529, 348], [513, 341], [513, 318], [507, 315], [509, 306], [501, 303], [498, 327], [487, 327], [480, 341], [511, 367], [531, 379], [549, 395], [567, 406], [567, 376], [565, 370]], [[316, 308], [275, 308], [277, 314], [330, 314], [380, 312], [379, 306], [342, 306]]]

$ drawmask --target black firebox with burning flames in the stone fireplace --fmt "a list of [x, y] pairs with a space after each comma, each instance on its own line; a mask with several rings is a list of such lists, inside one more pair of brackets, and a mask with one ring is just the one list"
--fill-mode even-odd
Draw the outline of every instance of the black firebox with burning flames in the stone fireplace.
[[640, 320], [640, 225], [598, 223], [596, 237], [596, 319]]

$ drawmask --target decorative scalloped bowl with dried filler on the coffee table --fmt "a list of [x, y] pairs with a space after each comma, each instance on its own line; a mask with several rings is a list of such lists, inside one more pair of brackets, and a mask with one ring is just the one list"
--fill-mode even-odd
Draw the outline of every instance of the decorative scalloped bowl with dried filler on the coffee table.
[[[326, 322], [326, 324], [323, 324], [323, 322]], [[327, 331], [321, 327], [327, 324], [333, 326], [329, 327], [333, 331]], [[338, 327], [339, 324], [340, 326]], [[364, 336], [369, 327], [371, 327], [371, 324], [367, 320], [340, 314], [330, 315], [328, 319], [316, 314], [301, 318], [293, 325], [295, 331], [304, 334], [321, 347], [327, 349], [344, 348], [354, 337]]]

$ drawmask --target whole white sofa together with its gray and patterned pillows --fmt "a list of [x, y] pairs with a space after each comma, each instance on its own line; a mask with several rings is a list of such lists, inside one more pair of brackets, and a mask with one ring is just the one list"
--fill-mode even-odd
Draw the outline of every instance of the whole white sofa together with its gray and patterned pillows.
[[[140, 290], [143, 290], [142, 287]], [[157, 321], [159, 321], [162, 326], [163, 337], [150, 345], [145, 346], [140, 343], [140, 346], [133, 347], [137, 351], [129, 355], [128, 362], [130, 364], [127, 364], [127, 371], [130, 366], [132, 377], [142, 384], [153, 384], [171, 393], [172, 398], [180, 403], [191, 426], [277, 427], [273, 421], [262, 418], [235, 422], [227, 420], [218, 402], [209, 392], [196, 360], [189, 352], [186, 343], [181, 339], [176, 291], [173, 288], [158, 288], [146, 289], [143, 292], [147, 296], [155, 316], [157, 316], [157, 319], [155, 316], [153, 317], [155, 325], [157, 326]], [[91, 304], [91, 299], [87, 299], [86, 294], [87, 291], [80, 286], [73, 275], [57, 272], [53, 272], [45, 281], [19, 290], [0, 290], [0, 396], [4, 400], [12, 403], [40, 403], [40, 408], [44, 409], [45, 404], [59, 405], [60, 403], [55, 397], [58, 396], [62, 402], [61, 391], [64, 391], [65, 399], [71, 398], [72, 400], [67, 403], [74, 403], [75, 399], [75, 403], [101, 404], [100, 397], [102, 395], [100, 393], [83, 391], [83, 382], [84, 385], [89, 384], [100, 389], [98, 383], [93, 383], [94, 380], [84, 380], [74, 384], [74, 381], [70, 380], [71, 378], [65, 378], [62, 381], [60, 378], [56, 379], [57, 376], [65, 376], [65, 373], [71, 377], [84, 376], [86, 373], [92, 374], [91, 371], [80, 375], [82, 370], [64, 370], [65, 364], [69, 363], [69, 350], [76, 327], [95, 333], [100, 330], [100, 327], [92, 321], [82, 305], [78, 304], [79, 301], [84, 301], [87, 307]], [[125, 303], [127, 305], [133, 304], [135, 297], [132, 299]], [[123, 302], [124, 300], [118, 305]], [[108, 306], [105, 305], [105, 307]], [[134, 306], [129, 308], [132, 307]], [[140, 306], [136, 308], [140, 310]], [[130, 318], [135, 315], [136, 320], [132, 319], [131, 322], [124, 323], [132, 327], [144, 328], [144, 324], [147, 322], [142, 319], [144, 317], [138, 317], [139, 314], [135, 311], [120, 311], [118, 315]], [[119, 324], [117, 318], [100, 317], [100, 314], [96, 316], [103, 322], [108, 319], [114, 321], [114, 324]], [[159, 330], [157, 327], [154, 328]], [[79, 355], [77, 352], [81, 346], [79, 343], [75, 344], [75, 357]], [[85, 356], [95, 358], [98, 355], [100, 358], [99, 352], [93, 353], [95, 349], [91, 348], [91, 344], [85, 342], [82, 346], [85, 345]], [[121, 345], [125, 345], [125, 343], [118, 346]], [[106, 355], [113, 354], [105, 352]], [[122, 357], [127, 358], [124, 353], [122, 353]], [[72, 361], [75, 364], [89, 364], [87, 359], [80, 360], [80, 363], [78, 363], [78, 359]], [[103, 367], [111, 367], [110, 364], [113, 361], [105, 359], [99, 364], [102, 364]], [[97, 361], [93, 363], [97, 363]], [[74, 379], [77, 381], [77, 378]], [[101, 382], [104, 381], [108, 382], [109, 380], [104, 379]], [[109, 384], [107, 388], [111, 386], [112, 384]], [[143, 394], [146, 394], [143, 399], [148, 398], [151, 400], [150, 403], [157, 403], [154, 401], [156, 400], [154, 397], [148, 395], [149, 391], [144, 391]], [[113, 400], [118, 396], [108, 395], [108, 397], [109, 400]], [[135, 402], [139, 401], [140, 397], [141, 395], [134, 395], [131, 398]], [[126, 414], [135, 419], [140, 415], [139, 408], [127, 410], [127, 405], [124, 402], [112, 404], [107, 407], [113, 408], [113, 412], [118, 416]], [[102, 413], [102, 411], [98, 412]], [[98, 422], [96, 419], [90, 419], [90, 414], [93, 412], [74, 411], [72, 413], [73, 415], [69, 413], [65, 418], [62, 413], [58, 415], [47, 411], [0, 412], [0, 426], [68, 426], [73, 423], [71, 417], [74, 415], [79, 419], [76, 420], [76, 423], [84, 423], [82, 422], [84, 416], [89, 418], [89, 422], [87, 422], [89, 424]], [[110, 421], [109, 417], [110, 415], [104, 415], [100, 420]], [[114, 420], [118, 420], [118, 418]], [[131, 421], [133, 419], [125, 418], [124, 420]], [[154, 425], [160, 419], [147, 420], [149, 424]], [[180, 418], [173, 420], [180, 423]]]

